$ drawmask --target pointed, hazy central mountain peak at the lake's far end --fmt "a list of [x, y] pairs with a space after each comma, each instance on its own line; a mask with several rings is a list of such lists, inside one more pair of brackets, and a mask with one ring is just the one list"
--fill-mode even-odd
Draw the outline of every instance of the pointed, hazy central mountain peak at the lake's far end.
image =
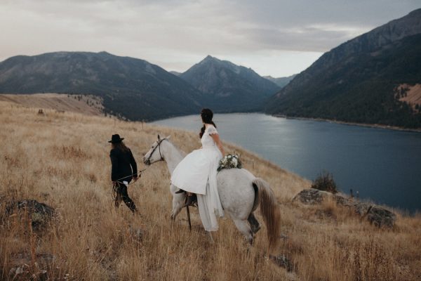
[[279, 90], [250, 68], [210, 55], [180, 77], [206, 95], [206, 105], [217, 112], [261, 110], [265, 100]]

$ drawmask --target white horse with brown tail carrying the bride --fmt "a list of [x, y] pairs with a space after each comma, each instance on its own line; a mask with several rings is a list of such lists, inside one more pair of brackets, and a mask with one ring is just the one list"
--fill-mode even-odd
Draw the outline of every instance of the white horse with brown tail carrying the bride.
[[[143, 162], [150, 165], [165, 161], [168, 171], [173, 174], [175, 166], [185, 157], [167, 138], [160, 138], [152, 144], [152, 148], [143, 157]], [[234, 221], [236, 228], [253, 244], [255, 233], [260, 230], [260, 223], [253, 211], [260, 204], [260, 212], [267, 227], [269, 247], [276, 244], [279, 237], [280, 211], [276, 198], [269, 185], [261, 178], [256, 178], [246, 169], [223, 169], [217, 175], [218, 192], [225, 214]], [[185, 195], [175, 193], [178, 187], [170, 186], [173, 195], [171, 218], [180, 213], [185, 204]]]

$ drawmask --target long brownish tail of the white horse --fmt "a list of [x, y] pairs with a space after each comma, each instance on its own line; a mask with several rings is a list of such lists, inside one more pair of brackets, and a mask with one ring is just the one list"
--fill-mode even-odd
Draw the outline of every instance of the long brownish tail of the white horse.
[[273, 190], [269, 187], [269, 183], [262, 178], [253, 180], [253, 188], [258, 190], [260, 202], [260, 213], [262, 213], [267, 228], [267, 240], [269, 247], [275, 247], [279, 240], [279, 232], [281, 229], [281, 213], [279, 211], [278, 202]]

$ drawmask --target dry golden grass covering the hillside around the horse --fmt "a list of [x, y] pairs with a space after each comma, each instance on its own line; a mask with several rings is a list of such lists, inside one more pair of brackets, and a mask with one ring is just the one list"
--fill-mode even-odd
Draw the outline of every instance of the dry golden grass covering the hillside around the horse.
[[[186, 152], [200, 146], [194, 133], [121, 122], [106, 117], [56, 113], [0, 102], [0, 194], [3, 203], [34, 199], [54, 207], [58, 218], [34, 233], [21, 216], [4, 216], [1, 204], [0, 279], [27, 263], [31, 273], [47, 270], [51, 280], [420, 280], [421, 217], [399, 214], [396, 228], [370, 226], [348, 209], [324, 202], [306, 207], [291, 198], [309, 181], [227, 144], [241, 153], [246, 169], [264, 178], [280, 202], [285, 254], [293, 271], [265, 259], [265, 227], [248, 245], [228, 218], [211, 244], [192, 211], [171, 226], [166, 165], [154, 164], [128, 192], [140, 210], [114, 209], [109, 180], [109, 143], [120, 133], [142, 169], [142, 155], [161, 136]], [[223, 136], [222, 136], [223, 137]], [[258, 214], [262, 223], [262, 218]], [[139, 240], [133, 230], [142, 229]], [[43, 256], [55, 259], [43, 265]], [[23, 275], [22, 275], [23, 276]], [[23, 278], [23, 277], [22, 277]], [[23, 279], [22, 279], [23, 280]]]

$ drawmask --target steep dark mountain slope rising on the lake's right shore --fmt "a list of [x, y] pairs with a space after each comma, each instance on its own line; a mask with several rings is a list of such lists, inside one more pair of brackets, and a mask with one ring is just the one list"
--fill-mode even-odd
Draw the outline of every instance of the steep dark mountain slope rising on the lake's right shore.
[[420, 128], [420, 105], [402, 99], [420, 83], [418, 9], [324, 53], [276, 93], [265, 112]]

